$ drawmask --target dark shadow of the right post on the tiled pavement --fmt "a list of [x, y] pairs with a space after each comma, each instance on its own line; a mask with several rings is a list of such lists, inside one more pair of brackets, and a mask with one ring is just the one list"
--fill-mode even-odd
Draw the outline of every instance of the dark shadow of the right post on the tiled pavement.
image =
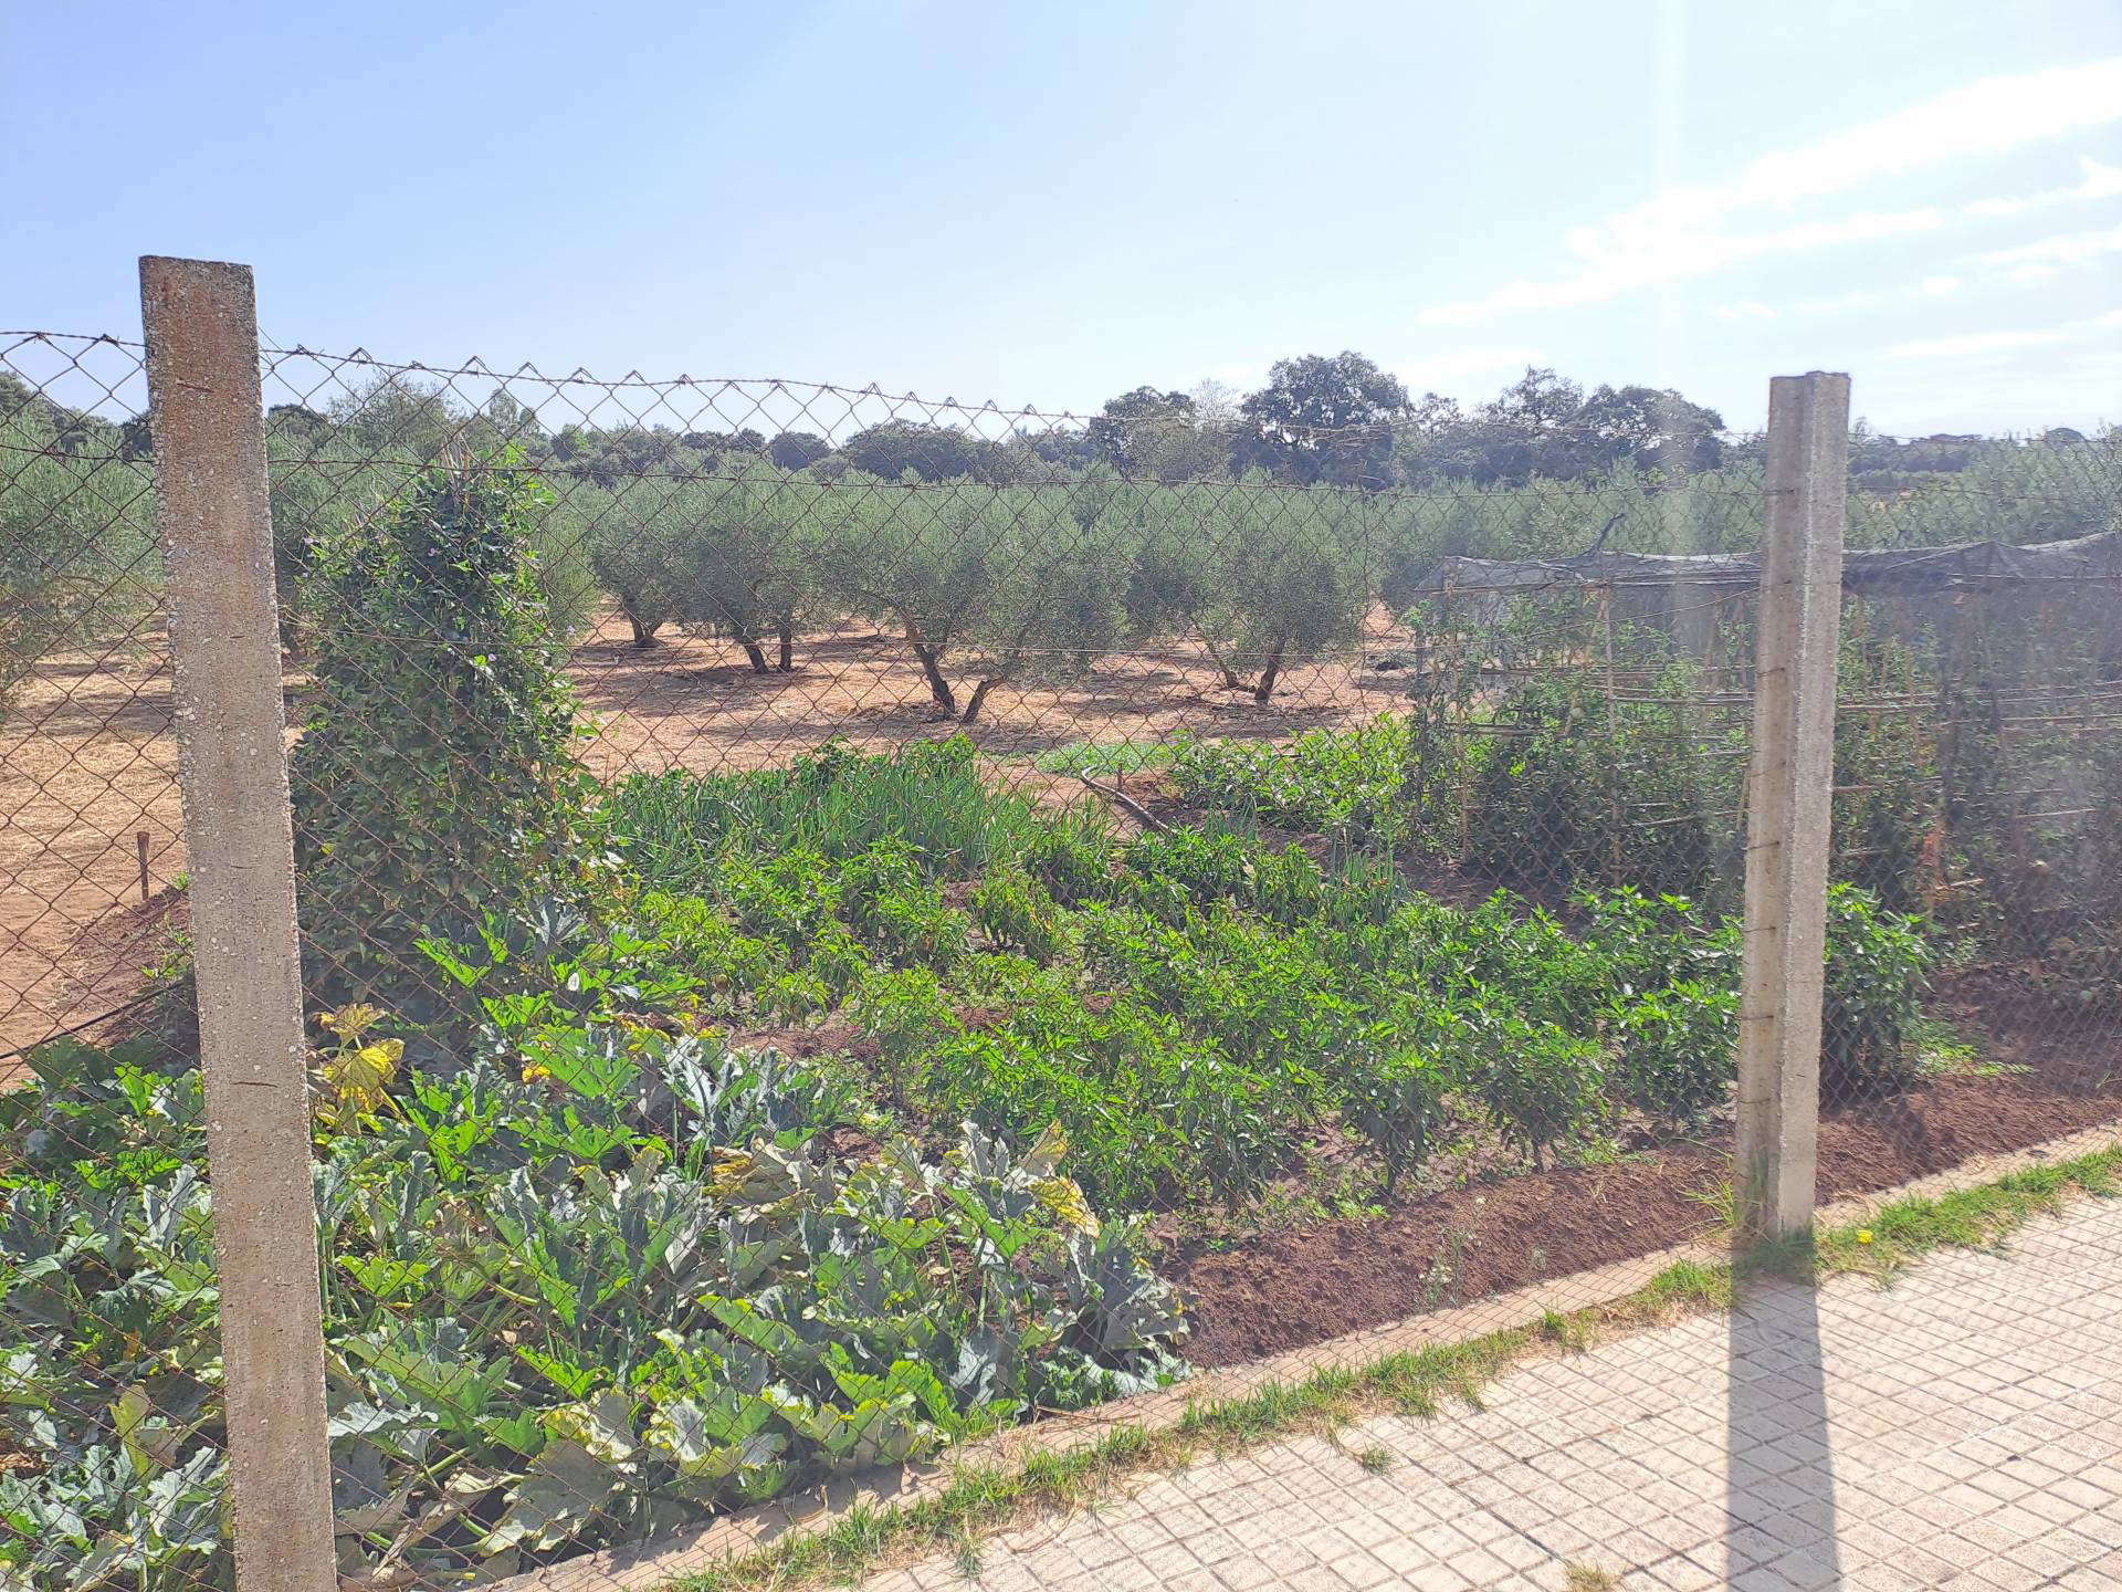
[[1725, 1586], [1812, 1592], [1842, 1584], [1819, 1295], [1749, 1278], [1734, 1299], [1725, 1390]]

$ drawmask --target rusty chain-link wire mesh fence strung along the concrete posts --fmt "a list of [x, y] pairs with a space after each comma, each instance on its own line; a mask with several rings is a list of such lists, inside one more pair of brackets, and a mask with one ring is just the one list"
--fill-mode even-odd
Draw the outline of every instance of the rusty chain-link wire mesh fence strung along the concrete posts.
[[[263, 380], [350, 1584], [594, 1586], [1729, 1223], [1759, 444]], [[233, 1573], [144, 408], [0, 338], [30, 1588]], [[1850, 467], [1823, 1195], [2122, 1114], [2122, 444]]]

